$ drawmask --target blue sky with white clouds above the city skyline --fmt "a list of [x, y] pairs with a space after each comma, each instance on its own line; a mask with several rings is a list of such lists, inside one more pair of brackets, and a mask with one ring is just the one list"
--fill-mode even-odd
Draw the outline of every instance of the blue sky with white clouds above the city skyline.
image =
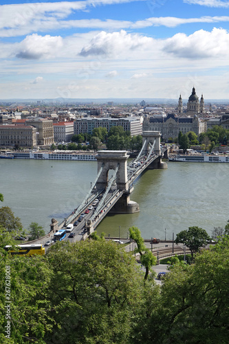
[[0, 0], [0, 99], [229, 99], [227, 0]]

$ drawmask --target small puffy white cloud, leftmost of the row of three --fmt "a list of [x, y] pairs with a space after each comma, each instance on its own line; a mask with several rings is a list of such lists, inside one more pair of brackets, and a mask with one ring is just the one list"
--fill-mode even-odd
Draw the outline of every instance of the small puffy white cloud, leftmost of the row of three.
[[39, 36], [32, 34], [27, 36], [19, 45], [17, 45], [16, 56], [25, 59], [50, 58], [61, 49], [63, 39], [61, 36]]

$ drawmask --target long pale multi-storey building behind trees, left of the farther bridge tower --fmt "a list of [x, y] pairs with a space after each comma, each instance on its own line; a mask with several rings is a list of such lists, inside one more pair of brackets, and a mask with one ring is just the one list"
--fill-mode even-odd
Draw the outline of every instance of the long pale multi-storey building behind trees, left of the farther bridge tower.
[[74, 134], [92, 134], [94, 128], [102, 127], [110, 131], [112, 127], [123, 127], [131, 136], [142, 134], [142, 118], [78, 118], [74, 121]]

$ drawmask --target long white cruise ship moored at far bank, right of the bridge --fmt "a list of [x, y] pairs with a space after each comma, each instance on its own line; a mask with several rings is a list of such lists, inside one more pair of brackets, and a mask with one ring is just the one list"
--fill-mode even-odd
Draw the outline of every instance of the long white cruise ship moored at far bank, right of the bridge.
[[170, 154], [168, 161], [179, 162], [229, 162], [229, 155], [211, 155], [211, 154]]

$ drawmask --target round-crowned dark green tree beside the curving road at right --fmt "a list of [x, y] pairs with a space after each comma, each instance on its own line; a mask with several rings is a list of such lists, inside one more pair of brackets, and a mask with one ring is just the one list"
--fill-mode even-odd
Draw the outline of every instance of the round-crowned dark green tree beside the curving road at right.
[[188, 227], [188, 230], [182, 230], [179, 232], [175, 239], [175, 243], [186, 245], [190, 249], [193, 259], [194, 253], [198, 252], [201, 247], [206, 246], [209, 240], [210, 237], [206, 230], [193, 226]]

